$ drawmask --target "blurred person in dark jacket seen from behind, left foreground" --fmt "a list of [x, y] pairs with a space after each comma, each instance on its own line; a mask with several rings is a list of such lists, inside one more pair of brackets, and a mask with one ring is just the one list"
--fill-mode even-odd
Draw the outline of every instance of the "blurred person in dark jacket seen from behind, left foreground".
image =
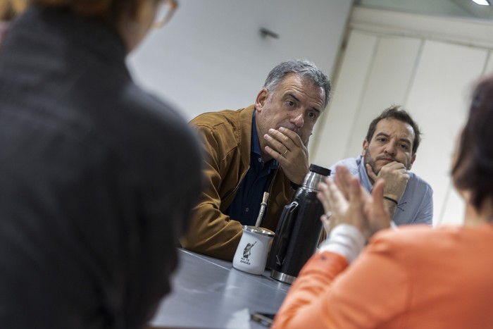
[[31, 2], [0, 51], [0, 328], [142, 328], [170, 292], [201, 151], [125, 58], [176, 3]]

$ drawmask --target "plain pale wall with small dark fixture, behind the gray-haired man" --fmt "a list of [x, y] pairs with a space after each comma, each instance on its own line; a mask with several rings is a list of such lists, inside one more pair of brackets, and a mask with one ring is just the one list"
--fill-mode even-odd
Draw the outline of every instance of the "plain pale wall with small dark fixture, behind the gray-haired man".
[[[254, 103], [280, 61], [307, 58], [327, 75], [352, 0], [181, 0], [173, 20], [130, 56], [136, 80], [191, 119]], [[261, 27], [280, 35], [263, 38]]]

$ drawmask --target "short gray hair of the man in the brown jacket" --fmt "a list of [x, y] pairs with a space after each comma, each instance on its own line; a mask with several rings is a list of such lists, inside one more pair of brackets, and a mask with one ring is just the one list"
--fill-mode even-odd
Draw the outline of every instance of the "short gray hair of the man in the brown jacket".
[[313, 85], [323, 88], [323, 91], [325, 92], [325, 103], [323, 104], [323, 107], [325, 108], [325, 106], [327, 106], [330, 99], [329, 77], [317, 68], [314, 63], [307, 61], [306, 59], [292, 59], [278, 64], [275, 68], [270, 70], [263, 87], [270, 92], [275, 91], [282, 79], [289, 73], [300, 75], [304, 79], [310, 80]]

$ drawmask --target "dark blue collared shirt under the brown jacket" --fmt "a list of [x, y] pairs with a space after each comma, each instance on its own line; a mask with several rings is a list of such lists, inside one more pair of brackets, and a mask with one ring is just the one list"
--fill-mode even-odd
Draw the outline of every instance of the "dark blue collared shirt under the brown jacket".
[[225, 214], [243, 225], [255, 225], [263, 192], [268, 191], [272, 173], [278, 167], [279, 163], [274, 159], [267, 163], [262, 160], [254, 111], [251, 123], [250, 168], [239, 185], [235, 200], [226, 209]]

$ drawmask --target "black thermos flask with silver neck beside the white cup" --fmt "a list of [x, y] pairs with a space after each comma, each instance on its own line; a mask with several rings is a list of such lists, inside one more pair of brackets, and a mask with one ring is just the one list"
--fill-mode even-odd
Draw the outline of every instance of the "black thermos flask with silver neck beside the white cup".
[[316, 251], [323, 215], [322, 203], [317, 199], [317, 185], [330, 175], [330, 169], [310, 165], [303, 185], [298, 188], [290, 204], [284, 207], [268, 256], [270, 277], [292, 283], [306, 261]]

